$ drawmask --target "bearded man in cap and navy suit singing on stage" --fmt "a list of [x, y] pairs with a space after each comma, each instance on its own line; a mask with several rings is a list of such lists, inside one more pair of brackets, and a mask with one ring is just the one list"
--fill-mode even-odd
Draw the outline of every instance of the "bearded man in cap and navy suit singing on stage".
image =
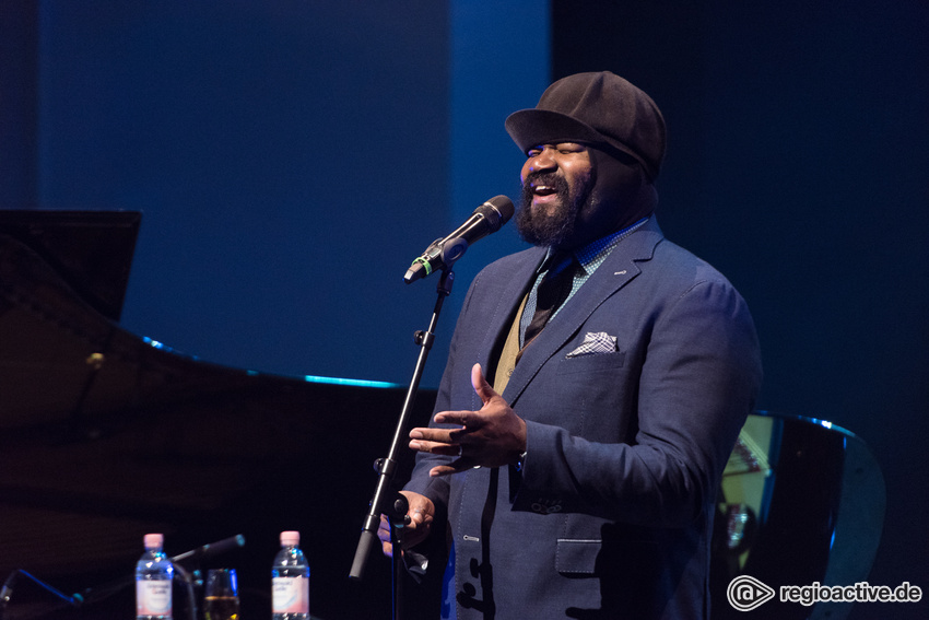
[[442, 507], [444, 617], [706, 619], [716, 490], [762, 375], [749, 309], [658, 226], [665, 121], [639, 89], [571, 75], [506, 129], [534, 247], [468, 291], [410, 433], [404, 559], [446, 536]]

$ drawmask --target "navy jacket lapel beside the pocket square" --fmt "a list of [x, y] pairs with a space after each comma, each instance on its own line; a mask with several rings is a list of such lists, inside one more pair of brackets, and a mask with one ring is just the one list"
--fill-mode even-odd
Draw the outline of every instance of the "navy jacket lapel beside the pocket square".
[[503, 394], [510, 406], [516, 402], [542, 365], [577, 334], [600, 304], [640, 273], [637, 262], [649, 260], [655, 246], [662, 238], [661, 229], [652, 217], [642, 229], [620, 242], [607, 260], [558, 312], [555, 319], [545, 326], [536, 341], [526, 349]]

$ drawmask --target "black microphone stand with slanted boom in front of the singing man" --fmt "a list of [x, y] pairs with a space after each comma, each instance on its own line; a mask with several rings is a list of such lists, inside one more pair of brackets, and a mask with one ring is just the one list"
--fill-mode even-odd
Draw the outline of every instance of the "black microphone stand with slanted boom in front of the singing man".
[[[416, 331], [415, 341], [416, 344], [420, 346], [420, 355], [416, 360], [416, 367], [413, 372], [413, 377], [410, 381], [410, 387], [407, 390], [407, 398], [403, 401], [403, 409], [400, 412], [400, 419], [397, 422], [397, 430], [393, 433], [393, 441], [390, 443], [390, 451], [388, 452], [387, 458], [379, 458], [375, 461], [375, 469], [378, 475], [377, 486], [374, 491], [374, 496], [371, 500], [369, 510], [367, 515], [364, 518], [364, 524], [362, 526], [362, 534], [358, 540], [358, 546], [355, 549], [355, 558], [352, 562], [352, 570], [349, 573], [349, 576], [354, 580], [361, 580], [364, 576], [365, 564], [367, 563], [368, 558], [371, 557], [372, 550], [378, 542], [377, 538], [377, 527], [380, 523], [380, 514], [389, 514], [391, 524], [396, 524], [396, 526], [391, 527], [391, 533], [395, 534], [395, 538], [397, 540], [397, 545], [393, 548], [393, 619], [399, 620], [400, 618], [400, 600], [399, 600], [399, 584], [400, 578], [402, 576], [402, 562], [400, 560], [401, 548], [399, 540], [399, 529], [402, 527], [401, 524], [408, 523], [407, 519], [407, 507], [405, 507], [405, 499], [399, 493], [391, 491], [391, 482], [393, 481], [393, 475], [397, 470], [397, 454], [404, 443], [405, 435], [409, 432], [407, 426], [409, 425], [409, 419], [412, 414], [413, 402], [416, 398], [416, 393], [420, 387], [420, 379], [423, 376], [423, 370], [426, 365], [426, 359], [428, 358], [430, 349], [432, 349], [433, 342], [435, 342], [435, 328], [438, 324], [438, 316], [442, 312], [442, 305], [445, 302], [445, 299], [451, 294], [451, 285], [455, 281], [455, 273], [450, 269], [450, 265], [443, 268], [442, 278], [438, 281], [438, 285], [436, 286], [437, 299], [435, 302], [435, 308], [433, 309], [432, 320], [430, 321], [428, 329], [423, 331]], [[392, 494], [392, 508], [387, 510], [388, 496]], [[398, 505], [398, 498], [401, 500]], [[401, 514], [397, 514], [398, 510], [402, 510]]]

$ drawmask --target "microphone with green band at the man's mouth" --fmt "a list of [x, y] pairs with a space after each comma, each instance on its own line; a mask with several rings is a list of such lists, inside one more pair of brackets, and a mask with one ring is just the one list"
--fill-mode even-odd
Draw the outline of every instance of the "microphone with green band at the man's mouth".
[[437, 269], [451, 267], [468, 246], [497, 232], [513, 217], [513, 201], [506, 196], [494, 196], [471, 213], [463, 224], [448, 236], [436, 239], [413, 260], [403, 276], [408, 284], [421, 280]]

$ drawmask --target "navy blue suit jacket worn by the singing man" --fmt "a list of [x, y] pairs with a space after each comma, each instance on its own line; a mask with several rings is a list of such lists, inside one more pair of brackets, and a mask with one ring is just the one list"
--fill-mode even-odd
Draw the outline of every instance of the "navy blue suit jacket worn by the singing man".
[[[474, 279], [436, 411], [481, 408], [470, 369], [491, 365], [544, 249]], [[568, 356], [588, 332], [618, 350]], [[458, 618], [708, 618], [722, 468], [761, 383], [745, 302], [652, 218], [623, 239], [526, 350], [503, 397], [528, 428], [522, 471], [408, 489], [448, 507]]]

